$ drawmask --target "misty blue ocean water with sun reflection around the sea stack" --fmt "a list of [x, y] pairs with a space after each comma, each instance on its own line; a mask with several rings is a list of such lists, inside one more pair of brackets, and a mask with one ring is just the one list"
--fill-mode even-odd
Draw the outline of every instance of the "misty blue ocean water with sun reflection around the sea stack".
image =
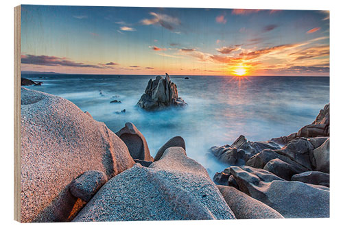
[[[117, 132], [132, 122], [145, 136], [152, 156], [167, 140], [182, 136], [187, 155], [213, 177], [226, 168], [209, 149], [232, 144], [240, 135], [250, 141], [287, 136], [310, 124], [329, 103], [329, 77], [173, 76], [188, 106], [146, 112], [136, 106], [155, 75], [23, 75], [42, 86], [28, 88], [55, 94], [89, 112]], [[110, 103], [113, 100], [121, 103]], [[120, 113], [121, 110], [125, 113]], [[119, 112], [119, 113], [117, 113]]]

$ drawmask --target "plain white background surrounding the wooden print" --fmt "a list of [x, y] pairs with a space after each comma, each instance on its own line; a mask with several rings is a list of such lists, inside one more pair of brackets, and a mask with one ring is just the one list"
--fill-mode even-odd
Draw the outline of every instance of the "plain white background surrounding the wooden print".
[[[255, 0], [255, 1], [2, 1], [1, 5], [1, 144], [0, 144], [0, 226], [1, 227], [342, 227], [342, 23], [343, 8], [339, 0]], [[331, 100], [331, 218], [286, 220], [217, 220], [116, 223], [44, 223], [20, 224], [13, 220], [13, 68], [14, 68], [14, 6], [36, 5], [108, 5], [185, 8], [255, 8], [282, 10], [330, 10], [330, 100]], [[319, 110], [318, 110], [319, 111]], [[289, 120], [292, 121], [292, 120]]]

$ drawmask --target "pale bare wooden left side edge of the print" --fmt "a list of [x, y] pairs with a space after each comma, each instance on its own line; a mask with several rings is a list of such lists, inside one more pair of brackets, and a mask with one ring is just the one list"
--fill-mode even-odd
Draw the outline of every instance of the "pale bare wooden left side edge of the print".
[[21, 222], [21, 5], [14, 8], [14, 220]]

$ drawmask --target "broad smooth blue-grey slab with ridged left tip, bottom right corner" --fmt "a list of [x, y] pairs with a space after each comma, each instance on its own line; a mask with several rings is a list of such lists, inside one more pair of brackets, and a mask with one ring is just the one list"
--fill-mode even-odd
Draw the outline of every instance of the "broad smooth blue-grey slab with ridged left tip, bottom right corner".
[[300, 181], [285, 181], [272, 173], [249, 166], [231, 166], [239, 189], [285, 218], [329, 217], [329, 188]]

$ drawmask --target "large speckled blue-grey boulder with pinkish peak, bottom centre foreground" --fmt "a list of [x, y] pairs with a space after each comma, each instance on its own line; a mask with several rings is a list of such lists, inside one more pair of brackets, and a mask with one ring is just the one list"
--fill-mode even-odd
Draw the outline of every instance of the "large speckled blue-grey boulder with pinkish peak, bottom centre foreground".
[[73, 221], [235, 218], [205, 168], [169, 147], [149, 168], [136, 164], [113, 177]]

